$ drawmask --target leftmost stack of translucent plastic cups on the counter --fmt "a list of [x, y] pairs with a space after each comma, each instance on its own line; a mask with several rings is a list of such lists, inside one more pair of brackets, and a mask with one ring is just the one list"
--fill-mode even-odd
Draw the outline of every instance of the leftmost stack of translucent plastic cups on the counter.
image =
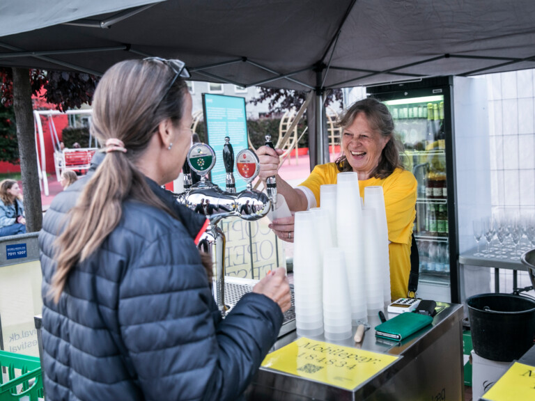
[[295, 213], [293, 285], [298, 336], [323, 333], [323, 260], [313, 212]]

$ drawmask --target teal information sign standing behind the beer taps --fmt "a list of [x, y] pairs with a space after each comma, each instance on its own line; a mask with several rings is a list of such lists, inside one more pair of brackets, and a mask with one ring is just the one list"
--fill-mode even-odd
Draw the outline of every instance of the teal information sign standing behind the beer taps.
[[[225, 189], [225, 165], [223, 163], [223, 146], [225, 136], [230, 137], [234, 157], [242, 149], [248, 149], [247, 114], [245, 113], [245, 97], [213, 95], [203, 93], [204, 122], [208, 134], [208, 145], [215, 151], [216, 163], [211, 177], [214, 184]], [[240, 178], [234, 168], [236, 191], [245, 189], [245, 181]]]

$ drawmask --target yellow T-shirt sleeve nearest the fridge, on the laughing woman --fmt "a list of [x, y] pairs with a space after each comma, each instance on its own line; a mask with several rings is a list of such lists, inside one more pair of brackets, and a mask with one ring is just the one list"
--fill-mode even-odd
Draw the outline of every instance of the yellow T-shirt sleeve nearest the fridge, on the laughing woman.
[[410, 245], [412, 225], [416, 216], [417, 180], [410, 171], [394, 171], [383, 185], [387, 211], [388, 239]]

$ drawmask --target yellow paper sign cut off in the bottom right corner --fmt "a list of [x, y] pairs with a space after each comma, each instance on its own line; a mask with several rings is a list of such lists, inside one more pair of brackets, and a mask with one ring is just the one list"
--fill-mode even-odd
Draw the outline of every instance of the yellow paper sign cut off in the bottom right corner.
[[489, 401], [535, 400], [535, 368], [515, 362], [483, 395]]

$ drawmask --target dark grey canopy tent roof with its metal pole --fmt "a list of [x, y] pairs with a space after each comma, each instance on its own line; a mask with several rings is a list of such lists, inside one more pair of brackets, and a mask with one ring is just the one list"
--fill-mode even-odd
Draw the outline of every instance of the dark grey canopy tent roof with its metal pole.
[[194, 80], [314, 91], [321, 128], [329, 88], [533, 68], [534, 17], [532, 0], [24, 0], [0, 5], [0, 65], [180, 58]]

